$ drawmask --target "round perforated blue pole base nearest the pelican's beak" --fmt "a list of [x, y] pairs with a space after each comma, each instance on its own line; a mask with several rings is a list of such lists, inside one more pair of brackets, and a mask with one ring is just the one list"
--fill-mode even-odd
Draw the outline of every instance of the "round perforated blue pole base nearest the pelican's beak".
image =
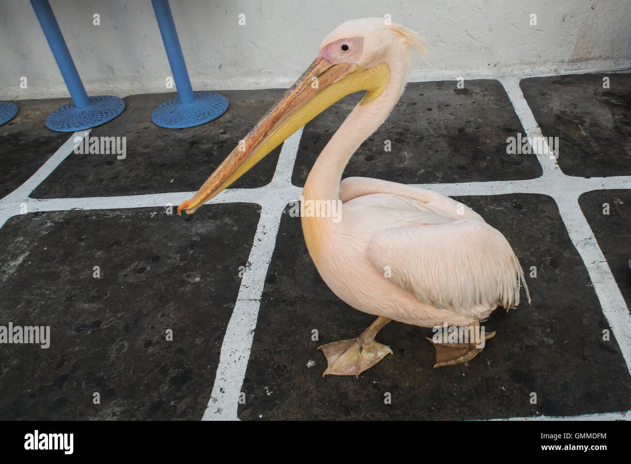
[[218, 93], [195, 92], [189, 104], [180, 102], [180, 97], [171, 98], [151, 113], [156, 126], [168, 129], [192, 128], [217, 119], [228, 109], [228, 98]]

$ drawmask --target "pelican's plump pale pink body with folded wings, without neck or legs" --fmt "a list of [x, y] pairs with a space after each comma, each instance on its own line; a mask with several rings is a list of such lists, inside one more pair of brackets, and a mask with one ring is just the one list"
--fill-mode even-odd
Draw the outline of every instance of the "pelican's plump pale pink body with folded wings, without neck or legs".
[[[353, 196], [362, 187], [397, 193]], [[422, 327], [468, 326], [519, 298], [514, 277], [521, 269], [512, 249], [466, 206], [425, 189], [361, 177], [345, 179], [340, 191], [339, 222], [303, 217], [302, 225], [322, 279], [355, 309]], [[492, 254], [468, 259], [466, 248], [476, 244]], [[459, 277], [474, 273], [481, 285], [463, 289]], [[503, 278], [495, 281], [493, 273]]]

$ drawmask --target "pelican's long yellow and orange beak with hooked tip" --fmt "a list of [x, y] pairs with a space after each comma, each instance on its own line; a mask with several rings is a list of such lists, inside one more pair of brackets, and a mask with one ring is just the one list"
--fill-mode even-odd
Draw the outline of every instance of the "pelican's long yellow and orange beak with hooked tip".
[[346, 95], [367, 90], [362, 104], [379, 97], [389, 81], [385, 62], [363, 69], [354, 63], [333, 64], [318, 56], [285, 95], [262, 117], [237, 148], [223, 160], [193, 198], [178, 208], [187, 214], [215, 197], [241, 177], [265, 155], [315, 116]]

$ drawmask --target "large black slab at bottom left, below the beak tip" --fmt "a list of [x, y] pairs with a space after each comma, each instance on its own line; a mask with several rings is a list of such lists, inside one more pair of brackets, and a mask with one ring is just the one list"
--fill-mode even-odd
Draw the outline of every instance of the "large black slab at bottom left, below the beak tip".
[[11, 218], [0, 325], [50, 326], [51, 341], [0, 345], [0, 419], [201, 419], [258, 217], [237, 203], [186, 221], [163, 208]]

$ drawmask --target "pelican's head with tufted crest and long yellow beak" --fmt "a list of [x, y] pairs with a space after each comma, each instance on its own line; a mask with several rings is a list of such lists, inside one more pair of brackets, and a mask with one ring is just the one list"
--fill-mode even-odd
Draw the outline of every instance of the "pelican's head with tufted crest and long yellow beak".
[[[340, 98], [365, 90], [360, 105], [374, 102], [391, 84], [392, 67], [400, 69], [404, 64], [407, 71], [410, 47], [425, 52], [415, 32], [388, 22], [384, 18], [346, 21], [327, 35], [307, 71], [177, 213], [194, 213]], [[398, 77], [400, 95], [405, 76]]]

